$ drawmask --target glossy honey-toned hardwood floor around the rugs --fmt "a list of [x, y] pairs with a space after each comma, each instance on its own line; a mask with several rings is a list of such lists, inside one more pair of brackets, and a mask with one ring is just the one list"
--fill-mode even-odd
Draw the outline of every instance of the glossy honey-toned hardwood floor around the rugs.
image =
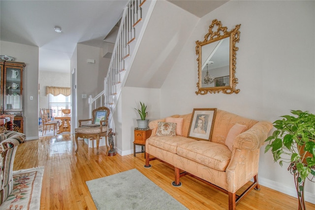
[[[143, 153], [120, 156], [105, 156], [105, 147], [89, 149], [79, 140], [77, 155], [73, 148], [74, 137], [70, 134], [58, 137], [40, 137], [27, 141], [18, 147], [14, 170], [44, 166], [40, 209], [41, 210], [96, 210], [86, 185], [87, 180], [117, 174], [136, 168], [176, 200], [191, 210], [226, 210], [226, 194], [190, 178], [181, 178], [183, 185], [173, 187], [173, 169], [158, 160], [150, 162], [152, 168], [144, 168]], [[108, 189], [104, 189], [108, 190]], [[122, 201], [123, 202], [123, 201]], [[307, 209], [315, 209], [307, 203]], [[252, 190], [237, 210], [297, 210], [297, 199], [261, 186], [260, 191]]]

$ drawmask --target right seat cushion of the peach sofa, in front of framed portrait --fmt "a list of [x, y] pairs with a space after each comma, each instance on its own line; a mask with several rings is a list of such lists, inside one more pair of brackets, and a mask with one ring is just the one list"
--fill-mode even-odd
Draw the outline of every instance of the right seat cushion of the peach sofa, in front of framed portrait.
[[196, 141], [179, 145], [177, 154], [210, 168], [225, 171], [232, 152], [222, 144], [209, 141]]

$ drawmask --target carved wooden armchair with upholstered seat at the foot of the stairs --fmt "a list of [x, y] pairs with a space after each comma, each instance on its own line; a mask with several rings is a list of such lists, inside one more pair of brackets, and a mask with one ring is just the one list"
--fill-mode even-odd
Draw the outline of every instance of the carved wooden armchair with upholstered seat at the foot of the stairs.
[[[75, 128], [75, 143], [76, 150], [75, 153], [78, 152], [78, 137], [83, 139], [96, 139], [96, 151], [98, 154], [98, 146], [99, 146], [99, 138], [105, 137], [106, 144], [106, 154], [108, 151], [107, 146], [107, 126], [108, 126], [108, 117], [110, 110], [106, 107], [99, 107], [93, 110], [92, 115], [93, 119], [87, 120], [79, 120], [79, 127]], [[82, 122], [89, 122], [87, 124], [83, 124]]]

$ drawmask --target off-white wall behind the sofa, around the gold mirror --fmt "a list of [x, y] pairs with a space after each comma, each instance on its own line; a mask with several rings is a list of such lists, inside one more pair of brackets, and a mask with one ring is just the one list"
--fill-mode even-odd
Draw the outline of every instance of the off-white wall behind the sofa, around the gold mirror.
[[[213, 19], [228, 30], [242, 24], [236, 60], [238, 94], [195, 94], [195, 41], [203, 40]], [[214, 107], [271, 122], [292, 109], [315, 113], [314, 79], [315, 1], [229, 1], [201, 18], [185, 44], [161, 88], [161, 117]], [[273, 162], [271, 152], [264, 154], [262, 147], [260, 184], [296, 197], [287, 166]], [[305, 197], [315, 203], [315, 183], [307, 182]]]

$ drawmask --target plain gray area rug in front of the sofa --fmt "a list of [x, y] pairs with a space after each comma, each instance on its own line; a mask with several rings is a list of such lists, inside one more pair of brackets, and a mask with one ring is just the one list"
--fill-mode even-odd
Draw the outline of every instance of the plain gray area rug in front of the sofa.
[[187, 210], [137, 169], [86, 183], [98, 210]]

